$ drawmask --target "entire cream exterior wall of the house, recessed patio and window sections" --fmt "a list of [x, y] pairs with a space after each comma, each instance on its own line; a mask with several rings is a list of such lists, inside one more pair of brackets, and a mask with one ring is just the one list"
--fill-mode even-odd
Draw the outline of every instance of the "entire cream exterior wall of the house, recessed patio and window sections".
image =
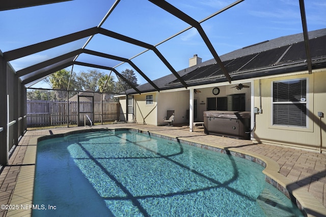
[[[326, 140], [325, 117], [318, 117], [318, 112], [326, 113], [326, 70], [319, 70], [308, 74], [298, 72], [288, 75], [255, 79], [249, 83], [252, 88], [237, 90], [231, 88], [234, 84], [219, 86], [220, 94], [212, 94], [211, 87], [200, 88], [201, 92], [195, 94], [197, 99], [197, 119], [202, 120], [202, 113], [206, 111], [209, 97], [227, 97], [234, 94], [246, 94], [246, 110], [253, 111], [252, 107], [262, 109], [262, 113], [252, 115], [256, 126], [252, 132], [252, 140], [265, 143], [289, 145], [302, 148], [319, 150], [320, 144]], [[307, 127], [273, 126], [272, 120], [272, 85], [274, 81], [307, 78]], [[259, 87], [261, 84], [261, 88]], [[253, 93], [251, 91], [254, 91]], [[153, 105], [146, 105], [146, 96], [153, 95]], [[252, 96], [252, 97], [251, 97]], [[253, 103], [251, 103], [253, 101]], [[120, 98], [122, 112], [125, 112], [125, 98]], [[167, 110], [175, 111], [175, 123], [188, 123], [187, 110], [189, 109], [189, 90], [174, 90], [169, 92], [153, 92], [142, 95], [134, 95], [135, 121], [149, 125], [166, 125], [163, 117], [167, 116]], [[144, 122], [145, 120], [145, 122]], [[253, 123], [253, 122], [252, 122]], [[251, 126], [253, 128], [253, 126]], [[326, 144], [322, 144], [322, 150], [326, 150]]]

